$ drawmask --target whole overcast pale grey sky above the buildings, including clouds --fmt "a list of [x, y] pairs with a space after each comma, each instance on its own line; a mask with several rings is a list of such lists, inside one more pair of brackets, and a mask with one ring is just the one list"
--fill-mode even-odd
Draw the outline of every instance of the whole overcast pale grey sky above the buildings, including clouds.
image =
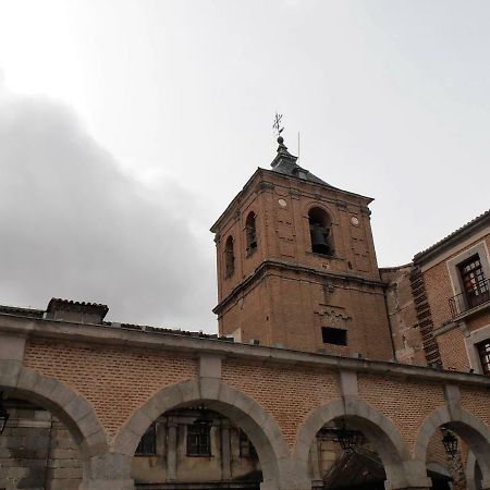
[[277, 144], [380, 266], [490, 207], [487, 0], [0, 0], [0, 304], [216, 330], [209, 226]]

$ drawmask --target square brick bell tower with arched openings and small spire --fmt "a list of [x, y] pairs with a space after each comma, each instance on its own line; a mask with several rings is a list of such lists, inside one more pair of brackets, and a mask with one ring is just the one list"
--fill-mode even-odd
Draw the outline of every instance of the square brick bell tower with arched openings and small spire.
[[318, 179], [278, 143], [272, 170], [257, 169], [211, 228], [220, 334], [391, 359], [372, 199]]

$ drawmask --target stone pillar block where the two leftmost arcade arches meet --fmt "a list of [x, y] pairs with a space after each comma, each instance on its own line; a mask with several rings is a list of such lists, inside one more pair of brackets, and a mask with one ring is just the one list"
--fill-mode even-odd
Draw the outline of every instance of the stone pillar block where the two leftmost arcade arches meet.
[[106, 453], [84, 461], [84, 479], [79, 490], [134, 490], [131, 479], [133, 457]]

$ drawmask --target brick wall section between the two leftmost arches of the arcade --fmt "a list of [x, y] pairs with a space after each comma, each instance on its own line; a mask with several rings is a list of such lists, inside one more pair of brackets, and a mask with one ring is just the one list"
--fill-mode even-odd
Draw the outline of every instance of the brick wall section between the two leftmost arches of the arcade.
[[109, 436], [156, 390], [197, 375], [182, 354], [29, 341], [25, 365], [83, 393]]

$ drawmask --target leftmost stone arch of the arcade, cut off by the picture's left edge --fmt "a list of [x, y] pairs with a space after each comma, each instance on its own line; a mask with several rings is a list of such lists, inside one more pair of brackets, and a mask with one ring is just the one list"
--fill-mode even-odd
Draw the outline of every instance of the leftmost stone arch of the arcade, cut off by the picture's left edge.
[[64, 424], [81, 453], [84, 479], [81, 488], [85, 488], [85, 482], [93, 478], [94, 462], [109, 449], [91, 404], [62, 381], [12, 360], [0, 360], [0, 390], [49, 409]]

